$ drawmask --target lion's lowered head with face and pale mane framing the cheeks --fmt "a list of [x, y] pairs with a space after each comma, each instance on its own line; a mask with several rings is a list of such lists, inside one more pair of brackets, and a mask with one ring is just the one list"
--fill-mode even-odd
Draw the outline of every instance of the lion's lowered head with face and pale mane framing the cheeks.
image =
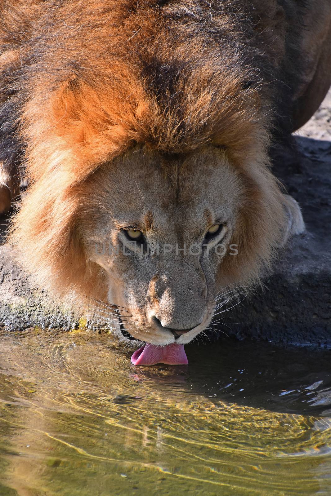
[[[121, 338], [153, 344], [205, 329], [217, 295], [226, 300], [269, 266], [287, 224], [265, 166], [235, 166], [213, 145], [183, 156], [137, 146], [56, 204], [48, 188], [32, 186], [15, 219], [39, 284], [87, 308], [102, 302]], [[35, 203], [46, 204], [44, 219], [32, 216]]]

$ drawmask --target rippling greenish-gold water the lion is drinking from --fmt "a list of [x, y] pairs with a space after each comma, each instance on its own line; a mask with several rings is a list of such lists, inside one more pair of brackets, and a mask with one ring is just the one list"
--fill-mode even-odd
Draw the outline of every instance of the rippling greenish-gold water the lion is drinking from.
[[330, 352], [230, 340], [133, 367], [110, 334], [0, 336], [0, 496], [330, 495]]

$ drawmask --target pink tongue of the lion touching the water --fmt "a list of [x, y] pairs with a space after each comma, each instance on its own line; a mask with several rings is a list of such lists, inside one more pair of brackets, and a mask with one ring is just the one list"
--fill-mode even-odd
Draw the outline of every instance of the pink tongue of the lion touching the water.
[[133, 365], [187, 365], [189, 362], [183, 344], [156, 346], [146, 343], [133, 353], [131, 363]]

